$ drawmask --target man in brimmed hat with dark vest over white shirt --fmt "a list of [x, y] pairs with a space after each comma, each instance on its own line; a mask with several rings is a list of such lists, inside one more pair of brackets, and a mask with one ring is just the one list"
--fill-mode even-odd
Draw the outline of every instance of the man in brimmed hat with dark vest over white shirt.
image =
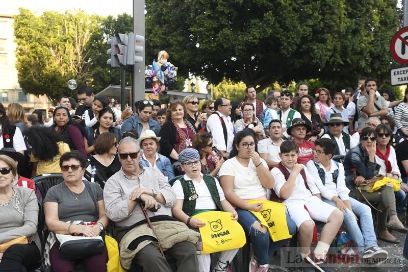
[[343, 120], [341, 113], [332, 113], [324, 125], [328, 126], [328, 131], [322, 138], [331, 139], [336, 143], [335, 155], [346, 155], [350, 150], [350, 135], [345, 133], [343, 129], [348, 126], [348, 121]]

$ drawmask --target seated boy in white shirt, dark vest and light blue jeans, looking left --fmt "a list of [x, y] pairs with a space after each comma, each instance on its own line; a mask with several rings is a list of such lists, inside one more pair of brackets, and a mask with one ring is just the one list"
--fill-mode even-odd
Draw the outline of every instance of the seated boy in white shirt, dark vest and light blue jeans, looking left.
[[[331, 159], [335, 154], [335, 143], [330, 139], [318, 139], [315, 145], [315, 158], [307, 164], [310, 174], [316, 177], [318, 190], [314, 187], [312, 193], [321, 193], [325, 203], [343, 211], [344, 225], [365, 263], [381, 264], [387, 260], [388, 252], [378, 247], [370, 207], [348, 196], [350, 190], [346, 187], [344, 167]], [[356, 216], [360, 218], [361, 228]]]

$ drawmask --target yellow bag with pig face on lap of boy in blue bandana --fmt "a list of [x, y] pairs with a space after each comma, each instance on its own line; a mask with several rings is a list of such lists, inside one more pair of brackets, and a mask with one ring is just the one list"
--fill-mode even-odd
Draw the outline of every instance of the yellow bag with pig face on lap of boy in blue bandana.
[[199, 228], [202, 253], [209, 254], [225, 250], [239, 249], [246, 243], [245, 232], [231, 212], [208, 211], [194, 215], [206, 223]]

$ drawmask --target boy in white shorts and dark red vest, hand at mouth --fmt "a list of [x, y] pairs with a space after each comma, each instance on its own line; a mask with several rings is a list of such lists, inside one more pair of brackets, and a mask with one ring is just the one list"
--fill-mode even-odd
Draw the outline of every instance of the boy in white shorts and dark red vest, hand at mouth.
[[330, 244], [343, 222], [343, 213], [322, 202], [318, 196], [312, 195], [311, 190], [317, 190], [313, 182], [317, 177], [311, 176], [303, 164], [296, 163], [298, 150], [299, 147], [294, 141], [284, 141], [279, 153], [282, 161], [271, 170], [271, 174], [275, 179], [273, 190], [284, 200], [289, 216], [298, 228], [298, 243], [303, 258], [302, 270], [313, 271], [314, 268], [307, 264], [311, 261], [309, 255], [315, 224], [313, 220], [326, 223], [314, 251], [315, 261], [319, 264], [325, 261]]

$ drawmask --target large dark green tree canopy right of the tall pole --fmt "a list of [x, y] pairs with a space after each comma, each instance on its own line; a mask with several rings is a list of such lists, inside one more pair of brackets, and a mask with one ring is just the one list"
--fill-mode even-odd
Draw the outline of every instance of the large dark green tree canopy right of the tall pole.
[[[146, 2], [146, 48], [166, 50], [179, 72], [263, 90], [319, 79], [350, 85], [384, 79], [389, 41], [400, 26], [397, 0], [173, 0]], [[330, 86], [327, 86], [330, 88]]]

